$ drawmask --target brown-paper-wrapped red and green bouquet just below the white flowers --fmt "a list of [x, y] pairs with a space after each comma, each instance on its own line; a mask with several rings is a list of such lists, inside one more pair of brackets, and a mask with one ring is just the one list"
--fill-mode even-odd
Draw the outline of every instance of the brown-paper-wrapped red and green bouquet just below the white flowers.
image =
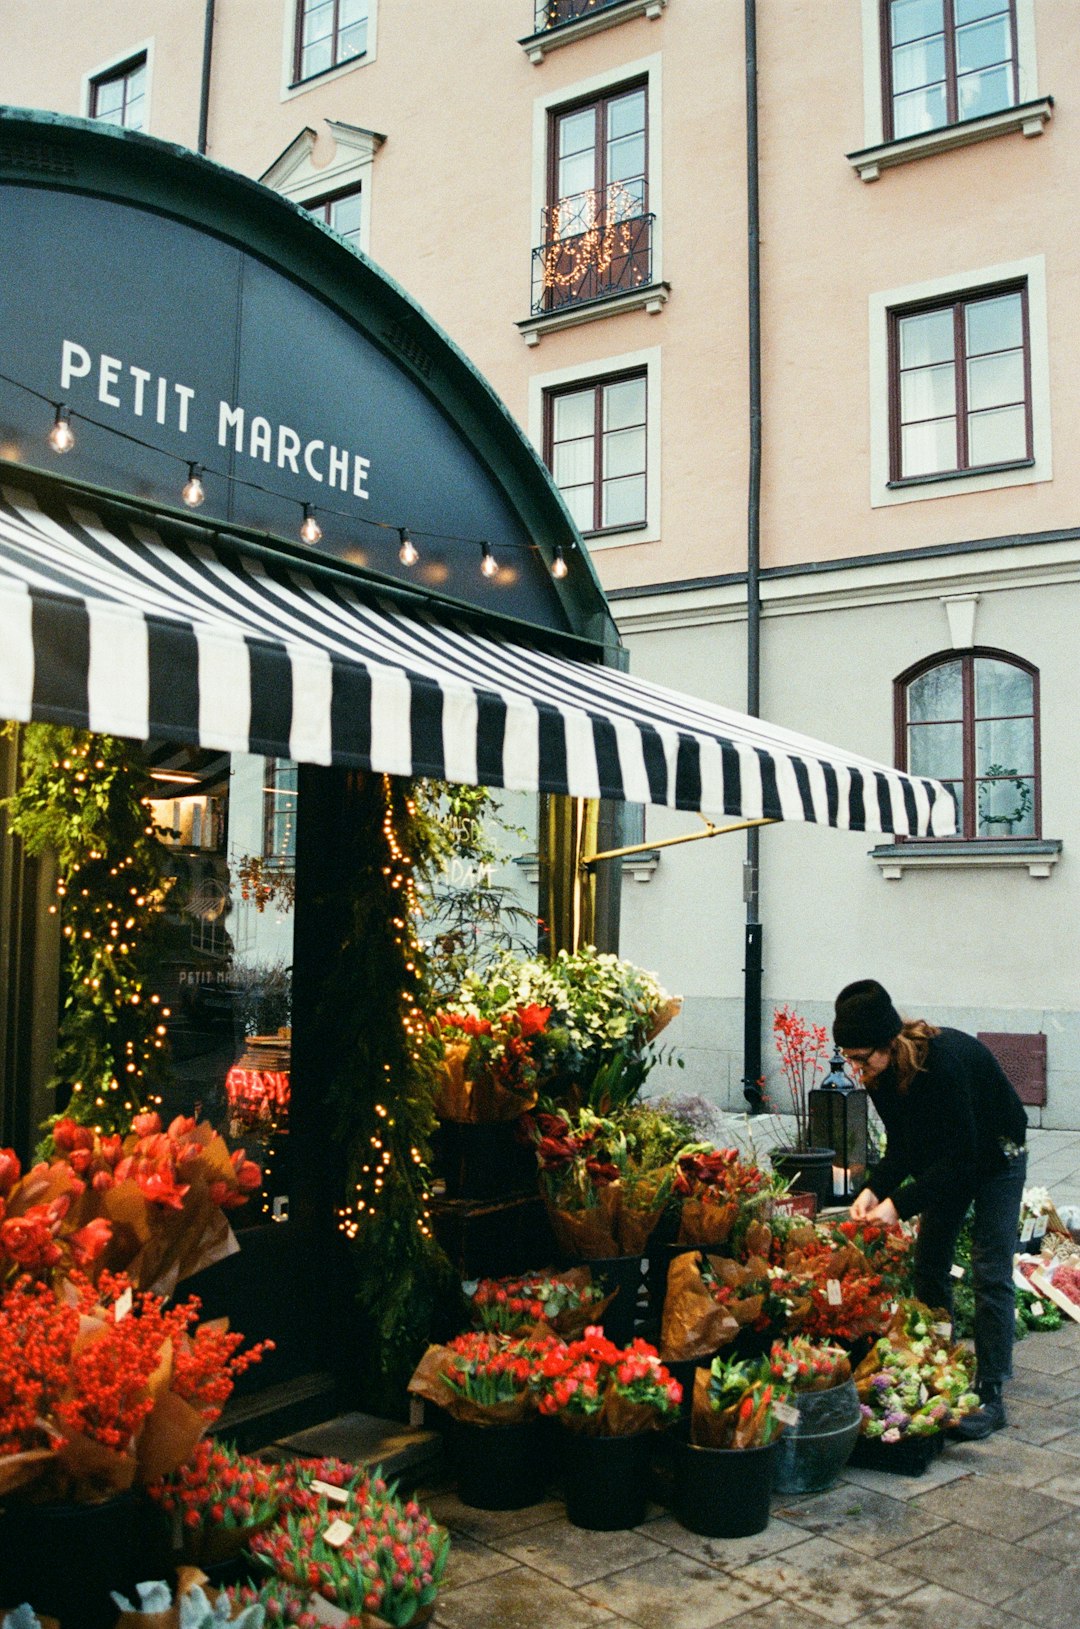
[[640, 1256], [671, 1196], [671, 1166], [648, 1168], [612, 1119], [591, 1109], [531, 1122], [552, 1232], [569, 1256]]

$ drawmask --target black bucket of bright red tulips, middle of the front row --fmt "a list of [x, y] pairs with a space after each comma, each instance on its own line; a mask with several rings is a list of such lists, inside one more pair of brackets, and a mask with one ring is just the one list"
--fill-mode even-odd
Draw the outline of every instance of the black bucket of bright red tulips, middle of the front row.
[[538, 1365], [539, 1412], [562, 1427], [567, 1517], [614, 1531], [645, 1520], [648, 1438], [678, 1416], [681, 1386], [645, 1341], [617, 1347], [601, 1329], [551, 1347]]

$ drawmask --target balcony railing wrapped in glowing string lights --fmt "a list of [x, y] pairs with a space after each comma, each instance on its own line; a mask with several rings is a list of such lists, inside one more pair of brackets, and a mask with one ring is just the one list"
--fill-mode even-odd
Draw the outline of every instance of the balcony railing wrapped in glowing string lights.
[[608, 191], [604, 209], [591, 192], [560, 199], [533, 249], [533, 316], [652, 283], [655, 220], [624, 187]]

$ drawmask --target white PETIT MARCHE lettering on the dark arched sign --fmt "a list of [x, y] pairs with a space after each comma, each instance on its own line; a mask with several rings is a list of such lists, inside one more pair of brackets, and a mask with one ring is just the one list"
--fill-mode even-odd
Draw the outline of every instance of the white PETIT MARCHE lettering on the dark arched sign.
[[[78, 380], [88, 380], [96, 399], [114, 412], [129, 412], [135, 419], [153, 414], [161, 425], [174, 425], [181, 435], [189, 435], [199, 420], [199, 401], [194, 386], [169, 380], [163, 373], [122, 357], [99, 352], [91, 355], [86, 345], [65, 339], [60, 345], [60, 393], [67, 397]], [[94, 389], [96, 384], [96, 389]], [[371, 497], [368, 479], [371, 459], [347, 446], [336, 446], [324, 437], [305, 441], [288, 424], [270, 424], [261, 414], [228, 401], [217, 404], [217, 445], [231, 446], [235, 453], [277, 463], [279, 469], [305, 477], [319, 485], [327, 484], [353, 498]], [[303, 464], [303, 468], [301, 468]]]

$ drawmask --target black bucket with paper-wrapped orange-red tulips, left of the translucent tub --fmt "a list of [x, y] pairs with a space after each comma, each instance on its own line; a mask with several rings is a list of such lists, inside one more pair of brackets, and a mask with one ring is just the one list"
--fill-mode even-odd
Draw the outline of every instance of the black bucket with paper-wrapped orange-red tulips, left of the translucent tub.
[[717, 1357], [697, 1370], [676, 1458], [676, 1515], [687, 1531], [744, 1538], [767, 1526], [780, 1432], [795, 1417], [764, 1359]]

